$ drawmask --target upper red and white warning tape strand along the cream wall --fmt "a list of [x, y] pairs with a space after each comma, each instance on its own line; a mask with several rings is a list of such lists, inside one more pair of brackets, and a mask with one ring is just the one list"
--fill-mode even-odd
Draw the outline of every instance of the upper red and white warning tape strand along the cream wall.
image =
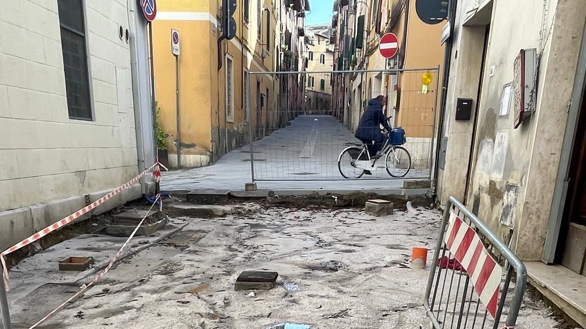
[[8, 269], [6, 268], [6, 261], [4, 259], [4, 256], [8, 255], [11, 252], [17, 251], [18, 249], [21, 249], [22, 247], [24, 247], [26, 245], [32, 244], [35, 241], [38, 241], [40, 238], [43, 238], [46, 235], [50, 234], [51, 232], [56, 231], [57, 229], [62, 228], [64, 225], [67, 225], [70, 222], [76, 220], [76, 218], [79, 218], [82, 215], [87, 214], [88, 211], [91, 211], [94, 208], [98, 207], [98, 205], [103, 204], [107, 200], [110, 200], [110, 198], [114, 197], [116, 194], [120, 193], [121, 191], [128, 189], [128, 187], [130, 187], [132, 184], [136, 183], [139, 179], [141, 179], [143, 176], [145, 176], [145, 174], [147, 174], [149, 172], [152, 172], [152, 175], [155, 177], [155, 181], [157, 181], [157, 182], [161, 181], [161, 169], [159, 166], [160, 165], [157, 160], [154, 165], [149, 167], [144, 172], [138, 174], [137, 177], [134, 177], [133, 179], [131, 179], [127, 183], [118, 187], [118, 189], [111, 191], [110, 193], [108, 193], [105, 196], [96, 200], [94, 203], [91, 203], [91, 204], [87, 205], [86, 207], [81, 208], [80, 210], [63, 218], [62, 220], [56, 222], [55, 224], [49, 225], [48, 227], [40, 230], [39, 232], [36, 232], [35, 234], [31, 235], [30, 237], [22, 240], [21, 242], [18, 242], [18, 244], [13, 245], [10, 248], [6, 249], [4, 252], [0, 253], [0, 262], [2, 262], [2, 268], [4, 269], [4, 271], [2, 272], [2, 276], [4, 276], [4, 285], [5, 285], [6, 291], [10, 290], [10, 288], [8, 286]]

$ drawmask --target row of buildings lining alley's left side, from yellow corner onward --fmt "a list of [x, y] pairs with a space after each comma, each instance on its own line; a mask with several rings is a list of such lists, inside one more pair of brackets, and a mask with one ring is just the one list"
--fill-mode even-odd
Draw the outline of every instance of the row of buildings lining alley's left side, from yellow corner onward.
[[[221, 0], [159, 4], [153, 26], [155, 95], [173, 167], [178, 166], [178, 149], [182, 167], [206, 166], [249, 143], [251, 135], [262, 137], [284, 125], [278, 94], [292, 84], [283, 86], [280, 76], [268, 72], [280, 70], [289, 50], [283, 44], [297, 45], [303, 26], [298, 15], [305, 11], [301, 5], [238, 1], [236, 36], [219, 42]], [[179, 109], [171, 29], [180, 35]]]

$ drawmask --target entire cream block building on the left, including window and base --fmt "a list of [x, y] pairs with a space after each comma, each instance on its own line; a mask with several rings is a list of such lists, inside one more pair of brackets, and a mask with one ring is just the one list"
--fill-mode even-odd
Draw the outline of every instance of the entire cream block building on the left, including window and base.
[[[4, 250], [132, 179], [155, 152], [147, 22], [134, 2], [2, 4]], [[86, 217], [140, 197], [148, 180]]]

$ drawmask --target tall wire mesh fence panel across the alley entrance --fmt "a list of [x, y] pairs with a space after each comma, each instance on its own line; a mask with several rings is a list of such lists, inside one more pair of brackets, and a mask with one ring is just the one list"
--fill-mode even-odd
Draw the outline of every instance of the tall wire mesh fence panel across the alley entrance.
[[[422, 76], [432, 77], [424, 84]], [[411, 155], [405, 178], [430, 179], [435, 148], [438, 68], [380, 71], [250, 72], [244, 95], [251, 127], [253, 180], [345, 180], [338, 157], [362, 147], [354, 132], [369, 100], [386, 95], [391, 126], [406, 131]], [[273, 88], [265, 87], [271, 81]], [[275, 94], [275, 92], [277, 92]], [[377, 160], [372, 176], [393, 179]]]

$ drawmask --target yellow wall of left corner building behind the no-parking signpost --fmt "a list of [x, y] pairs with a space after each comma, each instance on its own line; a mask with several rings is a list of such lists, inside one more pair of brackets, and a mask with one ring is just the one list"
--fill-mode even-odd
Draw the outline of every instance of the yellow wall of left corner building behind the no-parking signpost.
[[[245, 22], [242, 2], [238, 2], [233, 17], [237, 22], [236, 37], [222, 42], [222, 68], [218, 66], [217, 39], [220, 31], [221, 0], [169, 0], [158, 4], [158, 18], [153, 23], [154, 66], [156, 98], [161, 108], [159, 125], [165, 132], [171, 164], [176, 158], [175, 111], [175, 57], [171, 54], [171, 28], [180, 32], [179, 98], [180, 140], [182, 166], [208, 165], [224, 153], [239, 148], [250, 140], [248, 129], [265, 132], [274, 126], [277, 118], [275, 92], [278, 81], [267, 75], [250, 78], [250, 118], [244, 106], [244, 68], [250, 72], [272, 71], [275, 63], [274, 37], [277, 16], [274, 0], [263, 0], [260, 26], [261, 39], [257, 38], [257, 4], [250, 1], [250, 19]], [[271, 38], [268, 56], [262, 58], [266, 44], [265, 29], [269, 8]], [[215, 34], [214, 34], [215, 32]], [[226, 108], [226, 56], [233, 60], [233, 120]], [[261, 94], [267, 98], [260, 111], [261, 125], [257, 127], [256, 83], [261, 81]], [[267, 94], [267, 88], [269, 90]], [[270, 120], [270, 122], [268, 122]]]

